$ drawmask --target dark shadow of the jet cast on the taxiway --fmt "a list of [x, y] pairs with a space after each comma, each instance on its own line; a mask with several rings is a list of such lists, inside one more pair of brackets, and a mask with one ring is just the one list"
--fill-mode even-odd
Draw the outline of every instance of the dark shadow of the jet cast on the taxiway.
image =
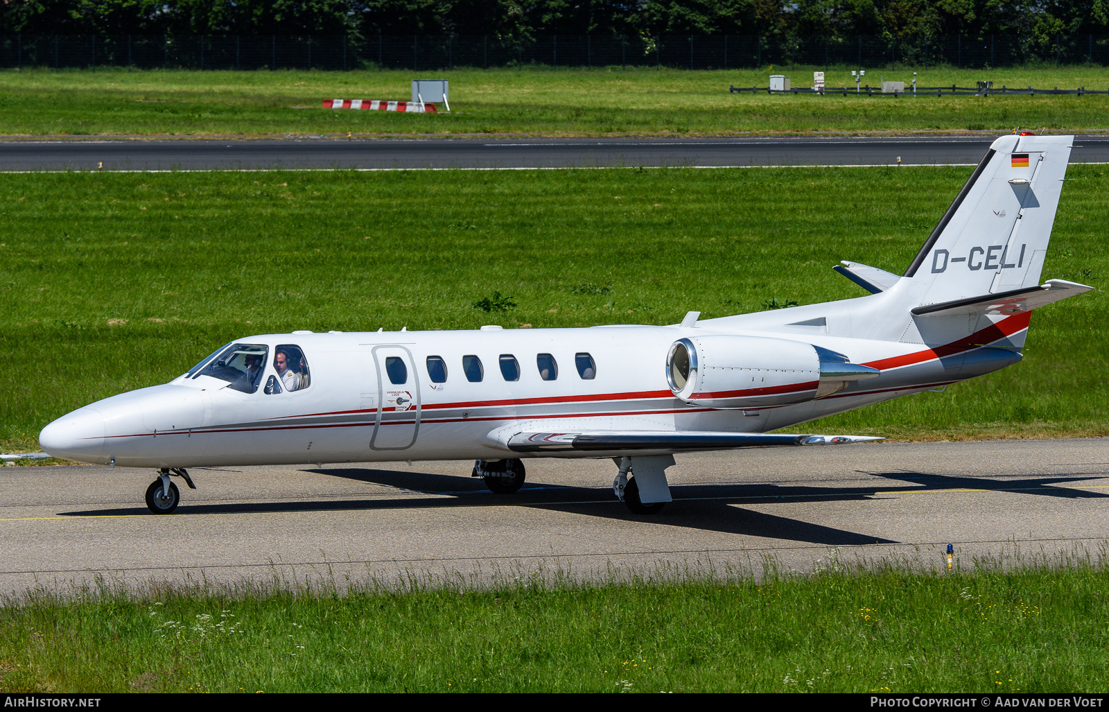
[[[573, 512], [588, 517], [642, 521], [659, 526], [683, 527], [769, 539], [825, 546], [855, 546], [897, 542], [868, 533], [847, 531], [790, 517], [755, 511], [744, 506], [785, 502], [866, 501], [898, 497], [904, 492], [916, 495], [928, 491], [960, 489], [1004, 491], [1069, 499], [1109, 497], [1109, 495], [1101, 492], [1058, 486], [1065, 482], [1102, 479], [1105, 476], [1101, 472], [998, 480], [993, 478], [933, 475], [918, 471], [889, 471], [867, 472], [886, 481], [869, 481], [859, 486], [828, 487], [807, 484], [682, 485], [678, 482], [671, 486], [674, 501], [658, 515], [644, 517], [632, 515], [628, 511], [624, 505], [615, 500], [611, 489], [607, 487], [574, 487], [529, 481], [515, 495], [496, 495], [488, 491], [481, 480], [456, 475], [440, 475], [414, 470], [379, 470], [360, 467], [326, 470], [305, 469], [304, 471], [306, 474], [365, 482], [375, 489], [381, 489], [366, 492], [366, 497], [347, 497], [342, 499], [199, 505], [190, 505], [187, 492], [191, 490], [184, 490], [182, 505], [174, 516], [517, 506]], [[889, 480], [895, 480], [896, 484]], [[397, 497], [395, 496], [396, 494], [404, 494], [406, 496]], [[437, 497], [414, 497], [413, 495], [437, 495]], [[144, 507], [130, 507], [69, 511], [60, 512], [60, 515], [88, 517], [136, 515], [144, 511], [146, 511]]]

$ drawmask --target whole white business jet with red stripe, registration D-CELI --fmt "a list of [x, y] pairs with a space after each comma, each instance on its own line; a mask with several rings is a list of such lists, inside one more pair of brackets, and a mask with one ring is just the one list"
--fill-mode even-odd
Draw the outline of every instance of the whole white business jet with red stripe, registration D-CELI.
[[879, 439], [770, 431], [1019, 362], [1031, 311], [1092, 288], [1039, 283], [1071, 140], [995, 141], [904, 275], [835, 267], [867, 296], [670, 326], [248, 336], [39, 441], [156, 468], [156, 513], [171, 477], [195, 488], [189, 467], [466, 459], [511, 494], [533, 457], [612, 458], [617, 497], [655, 512], [674, 454]]

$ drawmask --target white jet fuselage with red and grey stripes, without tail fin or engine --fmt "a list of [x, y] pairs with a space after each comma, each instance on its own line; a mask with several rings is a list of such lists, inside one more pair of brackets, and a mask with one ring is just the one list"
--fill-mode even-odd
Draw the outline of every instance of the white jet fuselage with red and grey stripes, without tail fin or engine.
[[[806, 308], [776, 314], [804, 316]], [[248, 336], [226, 347], [237, 346], [238, 356], [228, 350], [221, 368], [202, 362], [167, 384], [93, 403], [50, 424], [40, 443], [78, 461], [172, 468], [519, 457], [505, 447], [507, 436], [533, 429], [763, 433], [996, 370], [1020, 355], [981, 344], [1027, 327], [1027, 315], [997, 317], [989, 334], [944, 347], [767, 329], [760, 323], [766, 317], [749, 316], [759, 317], [751, 319], [756, 328], [728, 317], [693, 326]], [[881, 375], [802, 403], [718, 408], [683, 400], [668, 382], [668, 352], [680, 338], [713, 335], [814, 345]], [[228, 380], [252, 349], [261, 373], [250, 386], [246, 376]], [[281, 349], [303, 362], [296, 389], [282, 387], [293, 382], [275, 365]], [[792, 387], [790, 373], [775, 377], [783, 384], [776, 393]], [[795, 389], [811, 379], [798, 370]], [[556, 456], [608, 455], [620, 454]]]

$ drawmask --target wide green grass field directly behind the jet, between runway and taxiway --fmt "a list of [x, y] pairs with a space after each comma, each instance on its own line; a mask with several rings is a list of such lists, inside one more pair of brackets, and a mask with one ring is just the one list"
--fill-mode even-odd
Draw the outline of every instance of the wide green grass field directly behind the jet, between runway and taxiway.
[[[1045, 278], [1103, 285], [1106, 173], [1070, 167]], [[37, 450], [53, 418], [251, 334], [672, 324], [862, 296], [832, 265], [903, 272], [967, 174], [0, 174], [0, 448]], [[495, 291], [516, 308], [474, 308]], [[1017, 366], [806, 427], [1107, 435], [1103, 305], [1092, 292], [1037, 312]]]

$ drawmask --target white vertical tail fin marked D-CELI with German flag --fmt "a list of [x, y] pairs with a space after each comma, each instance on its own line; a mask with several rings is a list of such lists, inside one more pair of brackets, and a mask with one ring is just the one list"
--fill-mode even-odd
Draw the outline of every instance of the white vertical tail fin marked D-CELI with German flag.
[[905, 276], [920, 304], [1039, 283], [1074, 136], [1001, 136]]

